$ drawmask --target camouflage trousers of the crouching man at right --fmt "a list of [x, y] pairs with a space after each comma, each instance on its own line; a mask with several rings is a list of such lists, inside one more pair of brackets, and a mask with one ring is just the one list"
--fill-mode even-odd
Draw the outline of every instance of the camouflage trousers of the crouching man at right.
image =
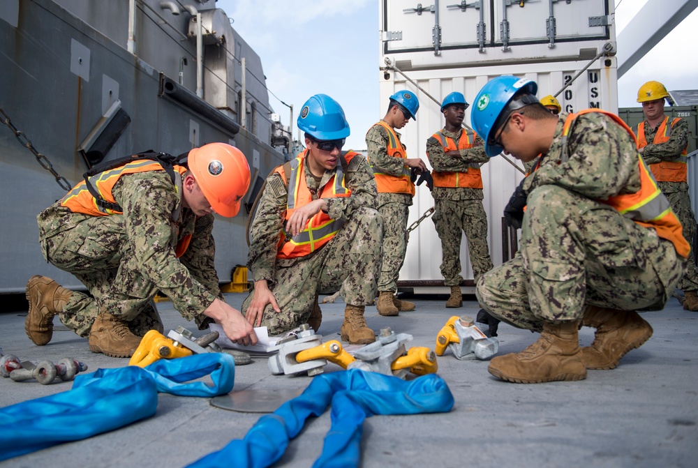
[[476, 289], [491, 315], [521, 329], [581, 319], [588, 305], [660, 310], [683, 275], [685, 259], [654, 229], [558, 186], [528, 195], [522, 229], [514, 259]]

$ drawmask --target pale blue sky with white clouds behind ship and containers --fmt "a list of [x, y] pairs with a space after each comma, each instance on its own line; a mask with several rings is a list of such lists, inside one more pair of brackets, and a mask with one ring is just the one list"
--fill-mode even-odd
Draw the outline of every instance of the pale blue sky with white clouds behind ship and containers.
[[[274, 111], [289, 123], [316, 93], [332, 96], [349, 121], [346, 148], [365, 149], [366, 131], [385, 113], [378, 82], [381, 0], [218, 0], [216, 6], [262, 61]], [[647, 0], [616, 0], [616, 35]], [[457, 3], [457, 2], [454, 2]], [[423, 3], [425, 6], [428, 4]], [[695, 43], [698, 9], [618, 80], [618, 107], [636, 107], [637, 89], [650, 80], [669, 91], [698, 89], [698, 61], [685, 51]]]

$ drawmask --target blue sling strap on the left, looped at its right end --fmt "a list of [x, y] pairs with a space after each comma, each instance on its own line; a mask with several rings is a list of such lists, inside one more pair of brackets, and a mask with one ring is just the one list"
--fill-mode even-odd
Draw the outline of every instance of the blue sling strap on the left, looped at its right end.
[[[213, 386], [187, 382], [209, 374]], [[156, 412], [158, 392], [211, 397], [230, 392], [234, 381], [235, 361], [218, 353], [162, 359], [144, 369], [129, 365], [77, 375], [71, 390], [0, 408], [5, 447], [0, 460], [149, 418]]]

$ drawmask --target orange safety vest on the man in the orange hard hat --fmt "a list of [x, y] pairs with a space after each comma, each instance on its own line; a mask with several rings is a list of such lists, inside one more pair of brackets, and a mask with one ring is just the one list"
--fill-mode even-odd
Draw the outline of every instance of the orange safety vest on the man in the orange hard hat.
[[[172, 169], [179, 172], [181, 176], [186, 172], [186, 167], [174, 165]], [[110, 215], [120, 215], [123, 213], [121, 207], [117, 204], [112, 195], [112, 190], [114, 189], [114, 184], [119, 181], [121, 176], [124, 174], [135, 174], [136, 172], [148, 172], [148, 171], [164, 171], [165, 168], [151, 159], [139, 159], [134, 160], [131, 163], [126, 163], [119, 167], [114, 167], [112, 169], [107, 169], [103, 172], [98, 172], [94, 175], [88, 176], [87, 179], [90, 181], [91, 185], [97, 190], [100, 197], [104, 202], [114, 206], [113, 209], [99, 206], [96, 197], [90, 193], [89, 188], [87, 188], [87, 182], [82, 181], [78, 183], [75, 187], [71, 188], [70, 191], [63, 197], [61, 201], [61, 206], [73, 211], [73, 213], [83, 213], [89, 216], [110, 216]], [[181, 181], [174, 184], [176, 190], [181, 192]], [[174, 248], [174, 253], [177, 258], [184, 255], [186, 249], [191, 242], [191, 234], [184, 236]]]

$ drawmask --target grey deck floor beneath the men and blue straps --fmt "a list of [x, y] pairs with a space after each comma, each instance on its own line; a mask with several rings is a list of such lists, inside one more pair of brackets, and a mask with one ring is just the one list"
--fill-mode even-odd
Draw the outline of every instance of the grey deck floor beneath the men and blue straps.
[[[226, 294], [239, 307], [244, 294]], [[380, 317], [367, 308], [378, 331], [390, 326], [414, 336], [413, 346], [433, 349], [436, 334], [452, 315], [477, 312], [473, 296], [463, 308], [446, 309], [445, 297], [419, 296], [417, 310]], [[320, 334], [339, 339], [344, 304], [323, 304]], [[165, 334], [179, 325], [195, 329], [169, 302], [158, 303]], [[127, 359], [93, 354], [56, 320], [49, 345], [37, 347], [24, 334], [26, 310], [0, 314], [0, 347], [22, 360], [72, 357], [91, 372], [126, 365]], [[439, 375], [455, 398], [447, 414], [373, 416], [364, 423], [362, 467], [695, 467], [698, 458], [698, 312], [671, 299], [662, 312], [644, 317], [654, 328], [644, 346], [614, 370], [590, 370], [581, 382], [510, 384], [487, 372], [487, 362], [458, 361], [450, 351], [438, 358]], [[593, 338], [580, 332], [582, 345]], [[517, 352], [537, 335], [505, 324], [500, 352]], [[328, 365], [325, 372], [341, 368]], [[271, 375], [265, 358], [235, 370], [234, 391], [304, 388], [311, 377]], [[51, 385], [0, 378], [0, 406], [67, 391]], [[184, 467], [242, 438], [260, 414], [231, 412], [207, 398], [161, 394], [156, 416], [97, 437], [62, 444], [0, 463], [0, 467]], [[322, 450], [329, 411], [306, 424], [277, 467], [310, 467]], [[235, 466], [231, 460], [230, 466]]]

